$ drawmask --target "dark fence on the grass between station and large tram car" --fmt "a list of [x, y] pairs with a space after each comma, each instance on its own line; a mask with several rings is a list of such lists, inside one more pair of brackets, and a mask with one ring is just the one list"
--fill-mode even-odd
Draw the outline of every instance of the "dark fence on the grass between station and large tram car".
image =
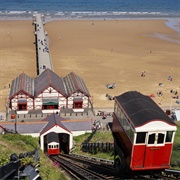
[[82, 151], [96, 154], [98, 152], [111, 152], [114, 149], [114, 143], [82, 143]]

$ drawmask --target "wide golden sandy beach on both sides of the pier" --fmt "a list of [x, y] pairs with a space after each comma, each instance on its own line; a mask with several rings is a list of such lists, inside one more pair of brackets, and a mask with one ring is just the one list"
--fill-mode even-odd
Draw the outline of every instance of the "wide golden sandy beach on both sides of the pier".
[[[95, 108], [112, 108], [106, 94], [126, 91], [154, 94], [160, 107], [177, 106], [170, 91], [180, 87], [179, 34], [165, 20], [59, 20], [48, 22], [54, 71], [84, 79]], [[0, 109], [8, 84], [25, 72], [36, 76], [32, 21], [0, 21]], [[141, 77], [145, 71], [145, 77]], [[172, 81], [168, 80], [172, 76]], [[115, 89], [106, 84], [116, 83]], [[162, 86], [159, 86], [162, 83]], [[6, 86], [6, 89], [4, 88]], [[163, 96], [158, 97], [157, 92]], [[180, 93], [180, 92], [179, 92]]]

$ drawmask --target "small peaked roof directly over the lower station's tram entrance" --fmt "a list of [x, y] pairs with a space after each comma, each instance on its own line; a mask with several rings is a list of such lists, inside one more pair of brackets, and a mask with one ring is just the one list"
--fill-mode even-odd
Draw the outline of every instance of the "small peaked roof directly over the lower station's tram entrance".
[[43, 119], [43, 121], [48, 121], [48, 124], [42, 129], [42, 131], [40, 132], [40, 135], [44, 134], [49, 129], [53, 128], [54, 126], [59, 126], [59, 127], [63, 128], [64, 130], [70, 132], [64, 126], [64, 124], [61, 122], [62, 120], [64, 120], [64, 118], [62, 118], [62, 117], [60, 117], [60, 116], [58, 116], [57, 114], [54, 114], [54, 113], [52, 113], [50, 116]]

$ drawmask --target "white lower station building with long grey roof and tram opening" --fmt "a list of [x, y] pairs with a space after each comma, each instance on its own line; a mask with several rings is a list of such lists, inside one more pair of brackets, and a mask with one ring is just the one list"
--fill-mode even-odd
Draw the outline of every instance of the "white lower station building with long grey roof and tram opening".
[[62, 151], [67, 153], [72, 149], [73, 137], [85, 133], [92, 133], [92, 119], [71, 120], [52, 113], [41, 121], [35, 122], [1, 122], [0, 132], [19, 133], [40, 138], [40, 147], [43, 152], [47, 151], [47, 135], [57, 133]]

